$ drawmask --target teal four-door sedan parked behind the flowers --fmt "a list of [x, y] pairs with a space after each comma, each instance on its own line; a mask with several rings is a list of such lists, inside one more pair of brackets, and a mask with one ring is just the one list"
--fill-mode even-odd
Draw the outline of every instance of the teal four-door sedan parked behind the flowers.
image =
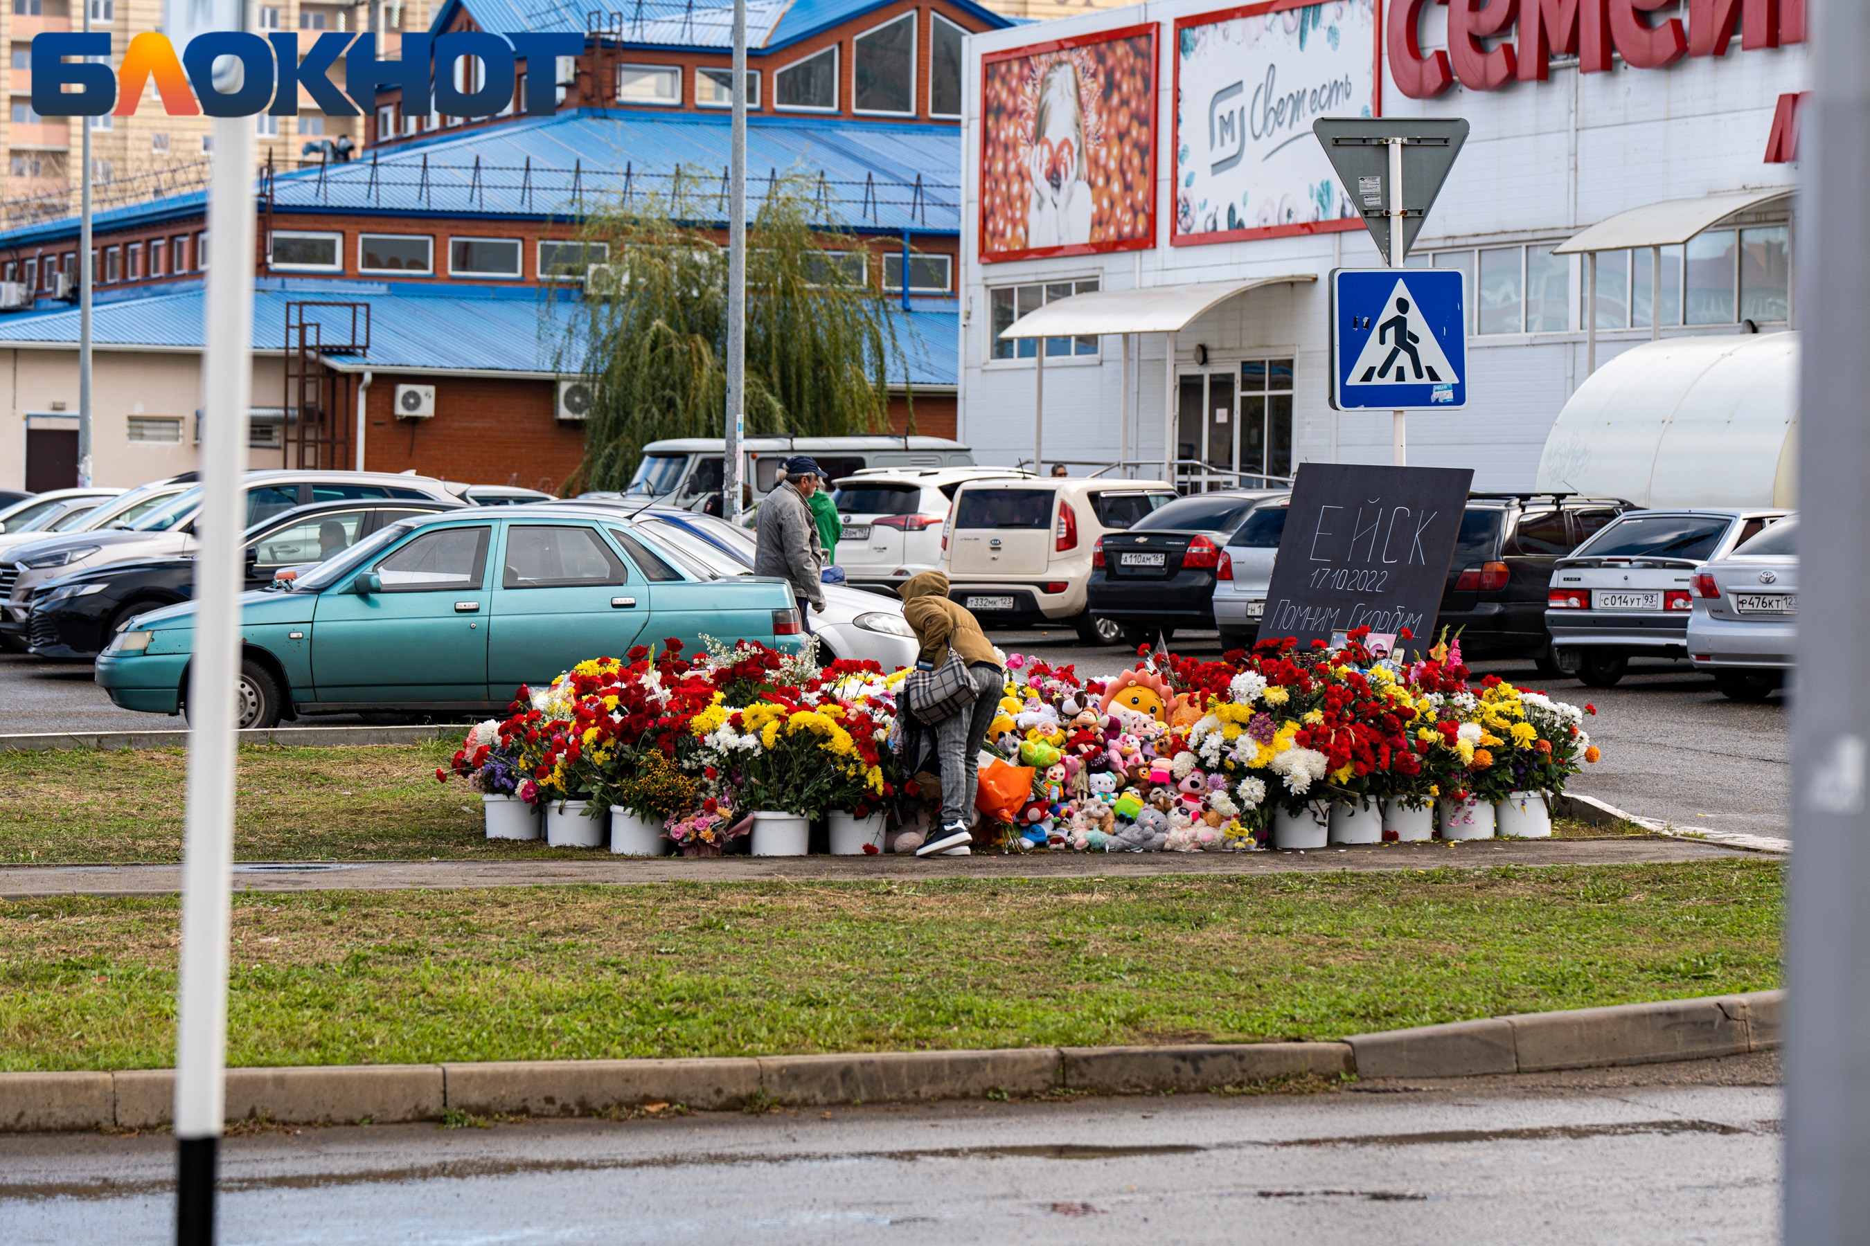
[[[585, 658], [709, 635], [798, 650], [791, 585], [716, 579], [628, 512], [481, 506], [393, 523], [286, 590], [241, 598], [239, 727], [353, 712], [497, 714]], [[125, 710], [180, 714], [194, 603], [129, 620], [97, 658]]]

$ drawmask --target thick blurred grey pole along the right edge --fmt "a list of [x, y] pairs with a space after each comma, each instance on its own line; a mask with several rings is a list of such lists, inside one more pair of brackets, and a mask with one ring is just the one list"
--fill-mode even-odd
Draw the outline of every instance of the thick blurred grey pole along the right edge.
[[[1799, 245], [1810, 310], [1799, 351], [1799, 557], [1823, 568], [1799, 602], [1786, 897], [1788, 1246], [1864, 1240], [1870, 1225], [1870, 6], [1812, 6]], [[1790, 674], [1790, 673], [1788, 673]]]

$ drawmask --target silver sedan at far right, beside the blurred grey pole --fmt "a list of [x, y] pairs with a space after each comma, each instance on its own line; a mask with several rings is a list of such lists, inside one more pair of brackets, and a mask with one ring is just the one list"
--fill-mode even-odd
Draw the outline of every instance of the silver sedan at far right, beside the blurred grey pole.
[[1791, 671], [1799, 643], [1799, 516], [1715, 559], [1689, 581], [1689, 659], [1733, 701], [1760, 701]]

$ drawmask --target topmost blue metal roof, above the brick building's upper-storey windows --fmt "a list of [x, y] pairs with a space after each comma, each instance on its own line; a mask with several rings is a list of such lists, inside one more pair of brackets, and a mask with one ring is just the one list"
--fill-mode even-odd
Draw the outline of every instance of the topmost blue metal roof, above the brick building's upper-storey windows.
[[[976, 17], [987, 30], [1015, 24], [972, 0], [950, 0]], [[748, 0], [746, 47], [755, 56], [776, 52], [808, 39], [817, 32], [847, 22], [892, 0]], [[606, 43], [619, 47], [711, 49], [733, 47], [733, 6], [701, 0], [634, 0], [619, 11], [600, 13], [610, 22], [600, 32], [589, 32], [589, 9], [568, 0], [449, 0], [438, 11], [428, 30], [441, 34], [456, 9], [468, 9], [475, 26], [497, 34], [578, 32], [602, 34]], [[611, 17], [621, 19], [621, 26]]]

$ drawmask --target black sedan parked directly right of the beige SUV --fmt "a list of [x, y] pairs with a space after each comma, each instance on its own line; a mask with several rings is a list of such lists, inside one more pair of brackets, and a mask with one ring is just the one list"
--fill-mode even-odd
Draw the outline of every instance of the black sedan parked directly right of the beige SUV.
[[1171, 639], [1176, 628], [1214, 628], [1214, 585], [1232, 577], [1227, 542], [1272, 489], [1178, 497], [1090, 551], [1086, 609], [1098, 635], [1126, 644]]

